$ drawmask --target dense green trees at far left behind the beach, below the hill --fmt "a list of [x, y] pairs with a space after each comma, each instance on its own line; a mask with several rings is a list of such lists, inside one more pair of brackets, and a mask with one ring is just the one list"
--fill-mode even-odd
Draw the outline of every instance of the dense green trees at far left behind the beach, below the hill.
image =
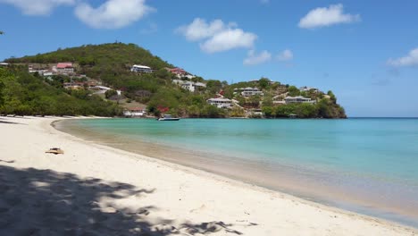
[[27, 68], [0, 68], [0, 114], [100, 115], [121, 114], [121, 108], [88, 91], [57, 89]]

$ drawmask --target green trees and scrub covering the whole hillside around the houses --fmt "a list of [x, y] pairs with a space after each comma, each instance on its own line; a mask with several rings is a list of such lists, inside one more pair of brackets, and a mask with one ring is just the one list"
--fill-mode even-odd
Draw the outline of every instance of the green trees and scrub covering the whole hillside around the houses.
[[[28, 63], [38, 63], [40, 68], [50, 66], [51, 63], [72, 62], [76, 65], [77, 73], [100, 80], [104, 86], [112, 90], [104, 94], [103, 98], [108, 100], [104, 102], [101, 97], [91, 96], [88, 90], [63, 89], [63, 82], [72, 80], [69, 77], [53, 76], [51, 80], [45, 80], [37, 74], [30, 75], [27, 72], [15, 71], [13, 74], [4, 74], [4, 78], [14, 78], [15, 84], [23, 84], [22, 88], [27, 88], [27, 90], [20, 92], [18, 89], [14, 93], [10, 89], [13, 83], [4, 83], [3, 113], [115, 115], [120, 114], [122, 109], [117, 108], [117, 105], [136, 103], [146, 105], [149, 114], [167, 113], [181, 117], [255, 117], [257, 116], [253, 115], [255, 110], [262, 110], [267, 118], [288, 117], [293, 114], [300, 118], [346, 117], [344, 109], [337, 104], [337, 98], [332, 92], [328, 94], [319, 91], [301, 92], [295, 86], [282, 85], [268, 78], [229, 85], [226, 81], [195, 77], [191, 80], [205, 82], [206, 88], [196, 89], [195, 92], [181, 89], [173, 83], [174, 79], [179, 78], [164, 69], [165, 67], [172, 68], [173, 65], [133, 44], [79, 46], [59, 49], [43, 55], [10, 58], [5, 61], [22, 64], [22, 66]], [[132, 64], [147, 65], [155, 71], [152, 73], [130, 72]], [[188, 80], [187, 78], [180, 79]], [[29, 84], [33, 84], [31, 86], [35, 90], [29, 89], [22, 80], [29, 80]], [[263, 96], [243, 97], [235, 90], [246, 87], [261, 89]], [[122, 91], [121, 96], [117, 95], [116, 90]], [[219, 97], [219, 94], [237, 100], [238, 104], [233, 109], [220, 109], [207, 104], [208, 98]], [[277, 97], [282, 99], [286, 96], [309, 97], [317, 103], [291, 105], [273, 103], [274, 97], [274, 99]], [[13, 105], [12, 97], [18, 97], [14, 100], [19, 100], [21, 103], [17, 106]], [[92, 104], [96, 104], [96, 110], [94, 108], [96, 106]]]

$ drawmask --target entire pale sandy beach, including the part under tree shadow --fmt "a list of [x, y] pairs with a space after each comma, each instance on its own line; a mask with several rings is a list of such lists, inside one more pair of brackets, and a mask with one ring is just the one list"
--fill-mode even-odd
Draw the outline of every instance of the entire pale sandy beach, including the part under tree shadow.
[[[0, 235], [415, 235], [416, 229], [0, 118]], [[63, 155], [46, 154], [61, 147]]]

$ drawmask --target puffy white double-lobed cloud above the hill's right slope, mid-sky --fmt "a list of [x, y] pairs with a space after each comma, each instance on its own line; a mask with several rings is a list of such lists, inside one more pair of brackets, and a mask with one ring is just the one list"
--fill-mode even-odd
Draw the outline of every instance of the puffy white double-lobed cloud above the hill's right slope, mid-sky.
[[200, 48], [209, 54], [239, 47], [253, 47], [257, 38], [254, 33], [238, 29], [235, 22], [226, 24], [222, 20], [214, 20], [208, 23], [200, 18], [180, 26], [176, 32], [189, 41], [200, 41]]

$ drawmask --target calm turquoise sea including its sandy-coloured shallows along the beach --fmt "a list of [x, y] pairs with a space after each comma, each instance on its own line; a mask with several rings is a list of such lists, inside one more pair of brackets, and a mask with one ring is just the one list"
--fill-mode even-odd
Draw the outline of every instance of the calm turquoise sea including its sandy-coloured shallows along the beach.
[[418, 226], [418, 119], [97, 119], [59, 122], [57, 128]]

